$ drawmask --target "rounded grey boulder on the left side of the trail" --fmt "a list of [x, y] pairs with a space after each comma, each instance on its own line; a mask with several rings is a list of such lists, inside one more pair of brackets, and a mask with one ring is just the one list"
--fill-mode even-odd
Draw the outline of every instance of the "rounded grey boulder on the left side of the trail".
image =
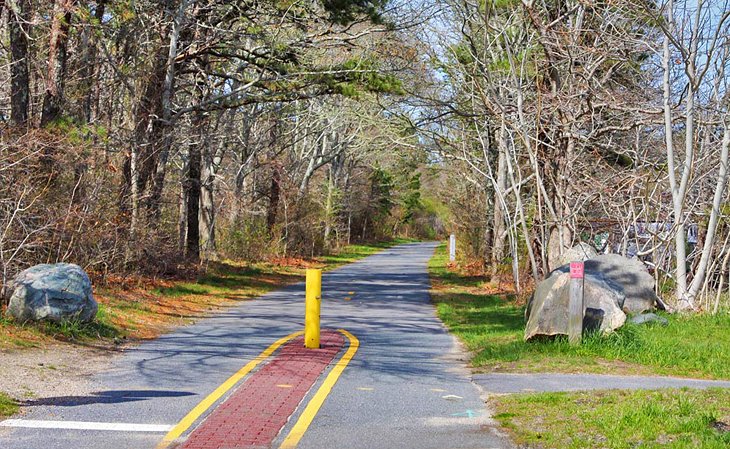
[[15, 277], [8, 313], [19, 321], [92, 321], [98, 306], [78, 265], [36, 265]]

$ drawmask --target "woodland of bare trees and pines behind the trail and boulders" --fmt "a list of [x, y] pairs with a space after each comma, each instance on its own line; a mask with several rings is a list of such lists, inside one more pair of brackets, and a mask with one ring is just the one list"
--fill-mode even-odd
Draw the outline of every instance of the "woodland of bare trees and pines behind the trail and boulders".
[[455, 233], [519, 294], [586, 242], [727, 304], [725, 0], [0, 7], [3, 291]]

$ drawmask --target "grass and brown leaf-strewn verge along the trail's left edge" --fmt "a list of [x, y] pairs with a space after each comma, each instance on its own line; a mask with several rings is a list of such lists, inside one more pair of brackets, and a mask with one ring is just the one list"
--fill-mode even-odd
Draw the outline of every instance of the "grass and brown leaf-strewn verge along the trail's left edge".
[[95, 291], [99, 303], [95, 322], [20, 324], [2, 318], [0, 349], [40, 346], [53, 340], [113, 346], [129, 340], [152, 339], [221, 307], [301, 281], [307, 268], [331, 270], [408, 241], [412, 240], [348, 245], [314, 259], [210, 263], [197, 279], [112, 277]]

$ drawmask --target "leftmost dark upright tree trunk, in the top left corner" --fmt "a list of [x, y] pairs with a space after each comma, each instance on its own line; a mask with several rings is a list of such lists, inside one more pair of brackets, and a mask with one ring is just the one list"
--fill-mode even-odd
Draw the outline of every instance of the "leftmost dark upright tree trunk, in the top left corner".
[[30, 35], [30, 0], [9, 2], [10, 28], [10, 118], [15, 126], [26, 126], [30, 106], [30, 70], [28, 38]]

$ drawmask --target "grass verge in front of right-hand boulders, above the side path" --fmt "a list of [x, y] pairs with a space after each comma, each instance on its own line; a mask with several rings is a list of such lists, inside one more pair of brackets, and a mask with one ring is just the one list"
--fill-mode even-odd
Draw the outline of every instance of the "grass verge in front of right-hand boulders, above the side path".
[[494, 371], [662, 374], [730, 379], [730, 315], [669, 315], [669, 326], [627, 324], [587, 335], [583, 344], [523, 341], [524, 307], [509, 295], [484, 295], [481, 278], [446, 268], [445, 245], [429, 264], [439, 317], [473, 353], [472, 364]]

